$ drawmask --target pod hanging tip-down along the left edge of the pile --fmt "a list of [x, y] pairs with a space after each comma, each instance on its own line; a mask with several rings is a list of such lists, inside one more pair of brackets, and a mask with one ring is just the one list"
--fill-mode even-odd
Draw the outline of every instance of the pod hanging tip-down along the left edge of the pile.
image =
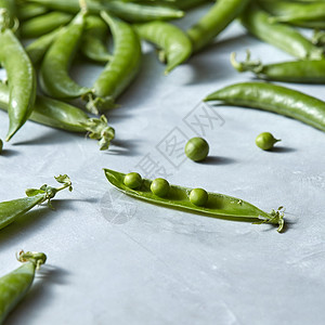
[[6, 141], [26, 122], [36, 98], [36, 74], [32, 64], [8, 24], [8, 12], [0, 9], [0, 65], [6, 72], [10, 88]]

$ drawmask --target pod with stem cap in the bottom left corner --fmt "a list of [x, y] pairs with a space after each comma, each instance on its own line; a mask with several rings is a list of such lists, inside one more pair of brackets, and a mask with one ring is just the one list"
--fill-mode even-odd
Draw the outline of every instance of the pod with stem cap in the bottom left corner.
[[0, 324], [26, 296], [34, 282], [36, 270], [46, 263], [47, 256], [43, 252], [22, 250], [17, 260], [23, 265], [0, 277]]

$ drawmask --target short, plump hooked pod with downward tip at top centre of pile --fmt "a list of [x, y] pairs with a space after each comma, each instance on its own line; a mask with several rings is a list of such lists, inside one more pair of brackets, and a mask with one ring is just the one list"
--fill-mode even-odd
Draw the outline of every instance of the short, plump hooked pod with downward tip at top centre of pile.
[[191, 56], [192, 42], [181, 28], [165, 22], [133, 26], [141, 38], [155, 43], [160, 49], [159, 57], [162, 62], [167, 61], [166, 75]]

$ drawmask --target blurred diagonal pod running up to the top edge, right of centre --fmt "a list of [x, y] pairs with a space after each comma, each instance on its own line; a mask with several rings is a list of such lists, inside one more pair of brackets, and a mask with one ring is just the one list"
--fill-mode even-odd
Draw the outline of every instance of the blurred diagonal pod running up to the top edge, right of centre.
[[212, 41], [245, 9], [249, 0], [219, 0], [188, 30], [193, 50], [199, 51]]

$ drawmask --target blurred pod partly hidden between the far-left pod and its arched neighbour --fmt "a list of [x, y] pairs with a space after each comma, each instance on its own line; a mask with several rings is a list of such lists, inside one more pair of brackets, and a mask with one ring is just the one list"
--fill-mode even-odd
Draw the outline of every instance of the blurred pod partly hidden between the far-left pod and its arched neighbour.
[[54, 40], [63, 32], [65, 27], [58, 27], [49, 34], [46, 34], [26, 47], [26, 52], [34, 65], [39, 64], [44, 57]]

